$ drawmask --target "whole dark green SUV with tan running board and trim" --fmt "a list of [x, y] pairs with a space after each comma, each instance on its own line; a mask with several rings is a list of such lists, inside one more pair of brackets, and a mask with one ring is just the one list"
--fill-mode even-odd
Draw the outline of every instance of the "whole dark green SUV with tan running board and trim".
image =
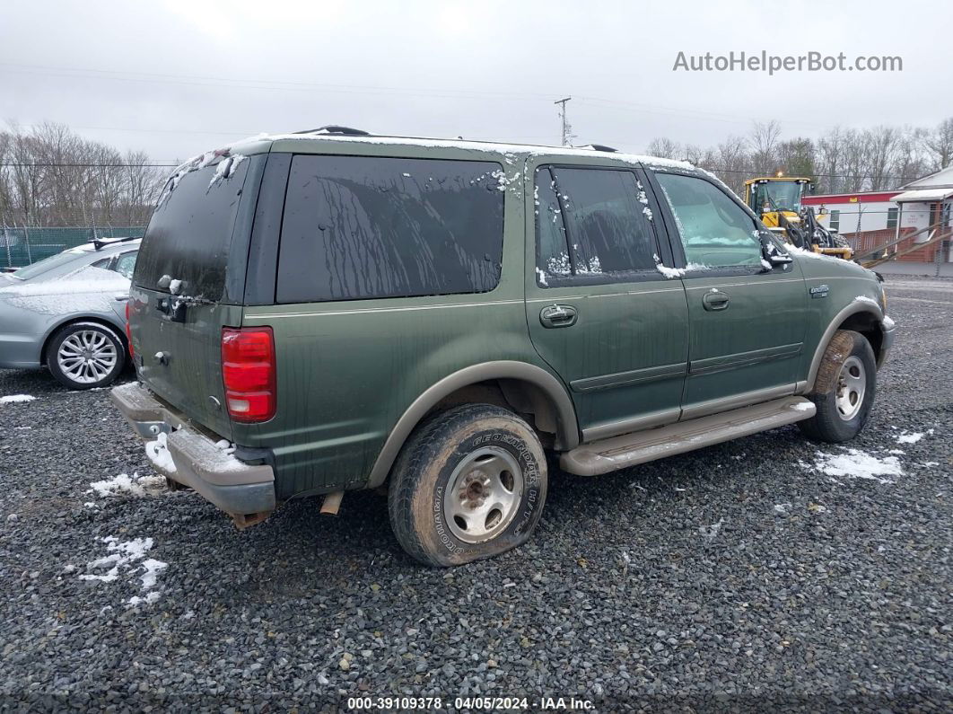
[[455, 565], [530, 537], [547, 454], [593, 476], [794, 422], [853, 438], [884, 305], [686, 163], [262, 135], [167, 183], [112, 400], [239, 527], [386, 486], [407, 552]]

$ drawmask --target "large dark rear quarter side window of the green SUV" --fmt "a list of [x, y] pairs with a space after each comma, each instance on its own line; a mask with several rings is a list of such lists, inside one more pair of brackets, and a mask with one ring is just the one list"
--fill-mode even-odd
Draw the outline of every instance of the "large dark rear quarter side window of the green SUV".
[[485, 161], [295, 156], [277, 301], [493, 290], [503, 250], [501, 176], [499, 164]]

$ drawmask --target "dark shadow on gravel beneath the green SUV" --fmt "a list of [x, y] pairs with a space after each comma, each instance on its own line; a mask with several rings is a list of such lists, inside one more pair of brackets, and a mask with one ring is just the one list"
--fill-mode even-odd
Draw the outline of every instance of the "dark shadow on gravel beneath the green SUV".
[[[709, 493], [757, 489], [760, 469], [778, 459], [796, 462], [805, 448], [813, 446], [797, 428], [782, 428], [596, 478], [567, 474], [551, 459], [549, 492], [536, 534], [523, 548], [495, 561], [512, 565], [514, 559], [518, 561], [529, 551], [531, 556], [549, 562], [573, 562], [578, 558], [577, 549], [567, 549], [565, 541], [582, 535], [590, 544], [595, 540], [624, 545], [629, 538], [626, 528], [606, 528], [593, 534], [593, 521], [623, 524], [651, 518], [652, 509], [659, 503], [676, 508], [680, 503], [695, 518], [699, 511], [707, 510]], [[279, 565], [296, 563], [279, 577], [270, 573], [267, 585], [262, 581], [246, 583], [242, 588], [245, 593], [274, 594], [280, 590], [305, 595], [314, 589], [315, 577], [319, 581], [346, 579], [372, 569], [431, 570], [401, 550], [391, 533], [387, 497], [382, 491], [348, 492], [337, 517], [319, 514], [320, 502], [319, 498], [291, 501], [264, 523], [226, 537], [231, 557], [244, 562], [248, 569], [254, 570], [263, 560]], [[494, 567], [495, 561], [457, 570], [486, 569]]]

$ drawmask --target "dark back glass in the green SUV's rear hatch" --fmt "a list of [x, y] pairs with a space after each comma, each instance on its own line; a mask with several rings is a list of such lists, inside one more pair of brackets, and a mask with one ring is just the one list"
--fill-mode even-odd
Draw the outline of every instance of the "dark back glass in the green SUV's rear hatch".
[[221, 299], [238, 198], [250, 163], [237, 157], [223, 161], [232, 165], [221, 170], [219, 162], [191, 171], [172, 191], [166, 187], [135, 262], [136, 285], [168, 292], [171, 280], [181, 280], [183, 295]]

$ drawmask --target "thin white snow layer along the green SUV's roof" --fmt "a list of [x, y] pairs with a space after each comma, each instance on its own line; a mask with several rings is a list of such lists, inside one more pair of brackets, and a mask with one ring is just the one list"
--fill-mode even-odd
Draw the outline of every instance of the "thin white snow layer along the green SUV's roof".
[[[659, 156], [646, 156], [637, 153], [621, 152], [600, 152], [596, 149], [575, 148], [565, 146], [545, 146], [540, 144], [506, 144], [491, 141], [468, 141], [465, 139], [434, 139], [421, 138], [416, 136], [348, 136], [332, 133], [279, 133], [267, 134], [259, 133], [245, 139], [236, 141], [230, 148], [238, 147], [243, 144], [251, 144], [263, 141], [320, 141], [342, 144], [387, 144], [399, 146], [415, 146], [421, 148], [439, 148], [439, 149], [470, 149], [482, 152], [494, 153], [528, 153], [528, 154], [559, 154], [565, 156], [593, 156], [599, 155], [605, 158], [618, 159], [628, 163], [642, 163], [649, 166], [667, 167], [672, 169], [681, 169], [684, 171], [695, 171], [696, 167], [687, 161], [678, 161], [670, 158], [660, 158]], [[188, 163], [188, 162], [186, 162]]]

